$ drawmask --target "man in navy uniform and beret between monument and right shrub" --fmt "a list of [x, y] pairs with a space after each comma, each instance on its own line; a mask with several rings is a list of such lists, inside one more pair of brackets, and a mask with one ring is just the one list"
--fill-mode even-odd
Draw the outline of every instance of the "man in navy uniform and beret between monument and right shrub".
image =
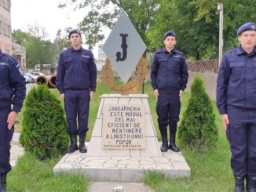
[[181, 94], [188, 83], [188, 67], [185, 56], [174, 49], [176, 34], [168, 31], [163, 35], [165, 48], [157, 51], [152, 63], [152, 87], [157, 99], [156, 113], [158, 114], [159, 130], [163, 145], [161, 151], [168, 150], [167, 126], [170, 127], [169, 149], [180, 151], [175, 143], [177, 121], [181, 110]]

